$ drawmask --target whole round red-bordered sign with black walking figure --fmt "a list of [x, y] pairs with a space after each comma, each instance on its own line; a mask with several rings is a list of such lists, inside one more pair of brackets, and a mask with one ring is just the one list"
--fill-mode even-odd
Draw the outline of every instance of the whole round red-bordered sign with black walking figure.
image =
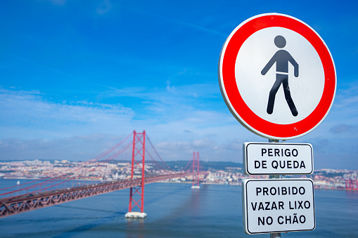
[[335, 66], [323, 39], [305, 22], [279, 13], [238, 25], [222, 47], [218, 74], [231, 113], [264, 138], [309, 133], [335, 97]]

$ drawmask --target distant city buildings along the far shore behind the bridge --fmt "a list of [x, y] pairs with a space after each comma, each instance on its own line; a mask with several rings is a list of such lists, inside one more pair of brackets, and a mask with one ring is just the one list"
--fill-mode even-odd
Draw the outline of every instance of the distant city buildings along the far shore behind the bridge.
[[[181, 171], [187, 161], [168, 161], [170, 171]], [[146, 162], [146, 176], [158, 176], [168, 173], [164, 166], [151, 161]], [[201, 162], [200, 171], [208, 171], [200, 175], [200, 183], [241, 185], [244, 178], [269, 178], [269, 176], [246, 176], [242, 164], [234, 162]], [[73, 180], [113, 181], [124, 180], [131, 176], [129, 161], [69, 161], [69, 160], [24, 160], [0, 162], [0, 178], [2, 179], [39, 179], [56, 178], [70, 174]], [[358, 190], [358, 170], [328, 169], [314, 170], [312, 175], [285, 176], [285, 178], [312, 178], [314, 188], [328, 190]], [[141, 177], [141, 167], [134, 171], [134, 178]], [[170, 183], [191, 183], [192, 177], [167, 180]]]

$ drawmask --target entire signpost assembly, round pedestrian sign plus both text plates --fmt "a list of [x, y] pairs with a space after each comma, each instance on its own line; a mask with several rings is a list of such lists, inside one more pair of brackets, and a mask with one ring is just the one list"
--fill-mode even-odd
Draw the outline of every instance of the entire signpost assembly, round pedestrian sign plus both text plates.
[[335, 65], [323, 39], [302, 20], [280, 13], [256, 15], [226, 39], [219, 86], [231, 114], [269, 143], [244, 143], [243, 224], [247, 234], [314, 230], [310, 144], [279, 143], [306, 135], [333, 105]]

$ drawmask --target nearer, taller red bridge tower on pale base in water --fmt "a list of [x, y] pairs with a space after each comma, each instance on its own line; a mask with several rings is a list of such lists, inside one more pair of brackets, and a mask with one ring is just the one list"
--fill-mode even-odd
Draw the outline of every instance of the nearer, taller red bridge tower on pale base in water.
[[[145, 152], [146, 152], [146, 131], [143, 133], [133, 132], [133, 150], [132, 150], [132, 171], [131, 179], [134, 178], [134, 171], [141, 169], [141, 185], [130, 188], [129, 194], [129, 209], [126, 213], [126, 218], [146, 218], [144, 213], [144, 166], [145, 166]], [[132, 211], [134, 208], [139, 211]]]

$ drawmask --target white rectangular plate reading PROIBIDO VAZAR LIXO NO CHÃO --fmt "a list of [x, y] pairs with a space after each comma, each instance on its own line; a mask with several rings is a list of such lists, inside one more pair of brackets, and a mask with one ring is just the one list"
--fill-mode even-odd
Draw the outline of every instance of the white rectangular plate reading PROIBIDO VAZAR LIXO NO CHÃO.
[[243, 180], [243, 225], [246, 234], [314, 230], [312, 180]]

